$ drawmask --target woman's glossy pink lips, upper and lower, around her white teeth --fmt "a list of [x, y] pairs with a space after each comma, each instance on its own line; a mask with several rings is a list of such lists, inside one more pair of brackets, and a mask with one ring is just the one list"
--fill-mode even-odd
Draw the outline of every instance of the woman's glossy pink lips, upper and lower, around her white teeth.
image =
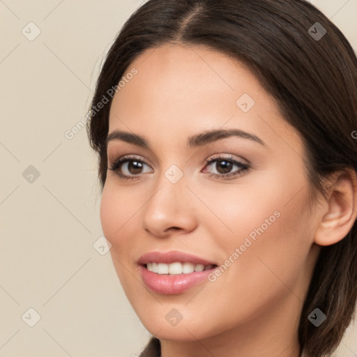
[[[204, 266], [214, 265], [214, 267], [207, 271], [194, 271], [188, 274], [172, 275], [153, 273], [145, 267], [145, 264], [149, 262], [171, 264], [175, 261], [183, 263], [189, 262], [195, 265], [203, 264]], [[218, 268], [218, 264], [216, 264], [215, 261], [209, 261], [197, 257], [196, 255], [179, 252], [177, 250], [171, 250], [169, 252], [148, 252], [138, 259], [137, 264], [139, 264], [139, 271], [146, 287], [149, 287], [151, 291], [157, 294], [165, 295], [181, 294], [204, 280], [207, 282], [208, 275], [210, 275], [215, 268]]]

